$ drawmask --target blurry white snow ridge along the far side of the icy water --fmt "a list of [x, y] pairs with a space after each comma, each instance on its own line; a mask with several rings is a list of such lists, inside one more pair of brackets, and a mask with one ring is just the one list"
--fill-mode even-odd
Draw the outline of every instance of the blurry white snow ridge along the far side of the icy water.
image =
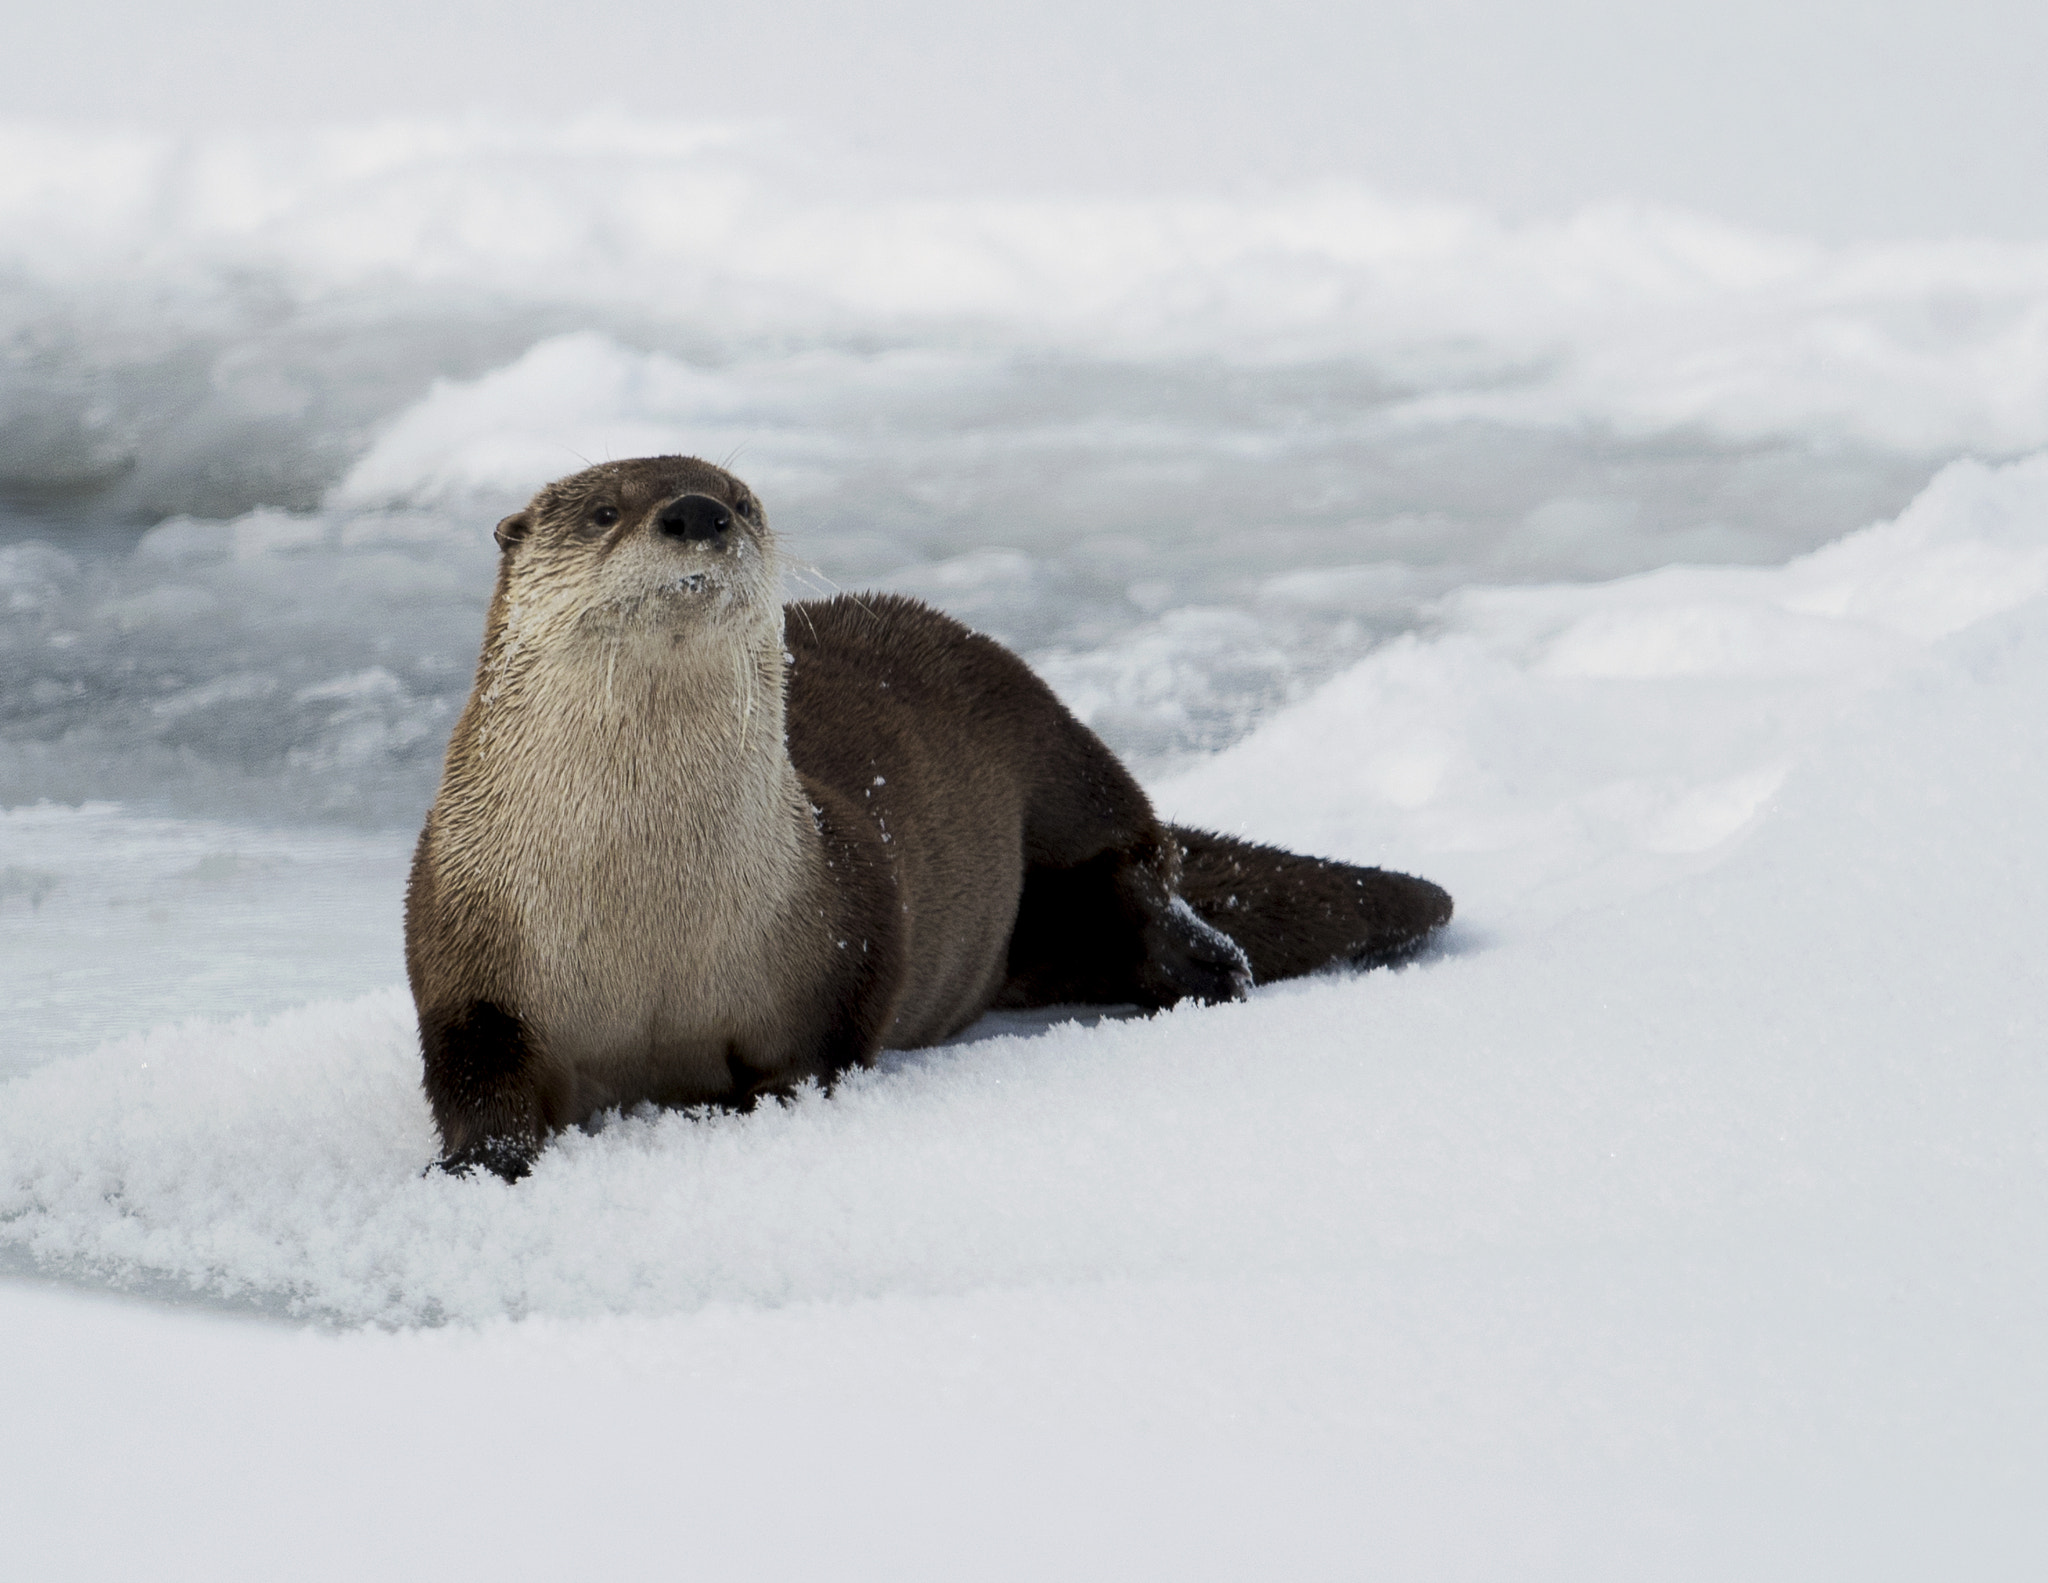
[[[215, 412], [246, 422], [322, 408], [332, 424], [309, 375], [346, 391], [365, 354], [403, 367], [399, 342], [346, 346], [354, 322], [453, 307], [485, 338], [510, 315], [532, 340], [573, 311], [700, 352], [1358, 358], [1407, 418], [1923, 451], [2048, 438], [2040, 244], [1831, 250], [1620, 207], [1503, 225], [1341, 184], [1243, 203], [905, 197], [881, 174], [805, 176], [760, 137], [621, 121], [4, 137], [33, 172], [0, 186], [0, 233], [39, 334], [92, 336], [49, 309], [104, 303], [123, 344], [182, 340], [205, 362], [240, 342], [213, 367]], [[143, 293], [168, 309], [154, 336], [125, 322]], [[422, 389], [449, 342], [412, 350], [399, 383]], [[121, 434], [90, 412], [80, 455]]]

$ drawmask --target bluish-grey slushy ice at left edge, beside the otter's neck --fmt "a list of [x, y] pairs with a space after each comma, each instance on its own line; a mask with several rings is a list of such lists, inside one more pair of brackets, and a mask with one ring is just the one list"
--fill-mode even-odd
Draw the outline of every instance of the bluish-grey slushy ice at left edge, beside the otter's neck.
[[133, 551], [4, 551], [0, 799], [412, 823], [489, 596], [489, 526], [174, 518]]

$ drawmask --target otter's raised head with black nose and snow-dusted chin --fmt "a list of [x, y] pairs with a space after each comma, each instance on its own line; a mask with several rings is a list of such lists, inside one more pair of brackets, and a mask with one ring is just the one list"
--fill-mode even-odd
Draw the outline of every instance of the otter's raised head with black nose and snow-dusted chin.
[[549, 483], [498, 524], [508, 623], [545, 643], [682, 643], [729, 623], [780, 631], [776, 549], [754, 491], [694, 457]]

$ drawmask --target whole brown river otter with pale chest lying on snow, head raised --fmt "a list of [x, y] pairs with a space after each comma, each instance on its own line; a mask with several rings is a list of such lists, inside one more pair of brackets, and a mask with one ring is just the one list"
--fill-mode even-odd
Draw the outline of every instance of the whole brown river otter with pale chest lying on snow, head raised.
[[406, 893], [442, 1165], [608, 1106], [750, 1106], [993, 1006], [1163, 1008], [1378, 962], [1427, 881], [1163, 825], [1014, 653], [915, 600], [782, 606], [754, 494], [606, 463], [498, 524]]

